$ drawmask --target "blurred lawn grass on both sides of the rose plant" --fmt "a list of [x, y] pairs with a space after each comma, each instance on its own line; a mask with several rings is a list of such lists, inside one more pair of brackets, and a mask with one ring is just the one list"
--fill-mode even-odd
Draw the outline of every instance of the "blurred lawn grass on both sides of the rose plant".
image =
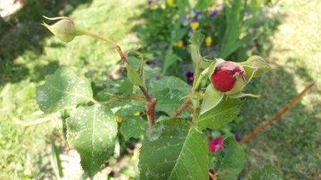
[[[71, 4], [60, 0], [54, 6], [50, 1], [31, 1], [16, 14], [19, 23], [6, 24], [0, 35], [0, 179], [54, 176], [48, 145], [52, 134], [61, 133], [61, 121], [59, 114], [44, 116], [36, 105], [35, 88], [44, 82], [44, 76], [59, 66], [68, 66], [82, 77], [90, 77], [93, 70], [103, 71], [100, 78], [106, 79], [119, 59], [112, 46], [96, 39], [81, 37], [69, 44], [61, 43], [40, 26], [41, 15], [71, 16], [77, 26], [111, 37], [123, 49], [137, 49], [141, 44], [131, 28], [143, 3], [93, 0]], [[280, 68], [276, 74], [267, 74], [248, 86], [247, 91], [262, 97], [246, 101], [238, 119], [241, 134], [247, 134], [282, 108], [309, 81], [321, 79], [320, 2], [281, 4], [282, 24], [265, 57]], [[246, 146], [244, 174], [272, 162], [282, 169], [286, 179], [320, 179], [320, 99], [319, 85], [319, 90], [310, 91], [295, 108], [251, 139]], [[24, 126], [37, 120], [46, 122]]]

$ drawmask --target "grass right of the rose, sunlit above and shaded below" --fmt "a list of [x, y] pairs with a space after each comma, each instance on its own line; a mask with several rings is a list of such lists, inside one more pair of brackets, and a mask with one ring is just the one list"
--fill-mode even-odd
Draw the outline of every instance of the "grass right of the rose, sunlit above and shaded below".
[[245, 174], [264, 163], [276, 164], [285, 179], [320, 179], [321, 96], [320, 1], [281, 1], [279, 31], [272, 37], [272, 50], [265, 57], [280, 68], [267, 74], [248, 91], [260, 99], [248, 99], [240, 116], [240, 131], [247, 134], [302, 91], [313, 79], [312, 89], [293, 109], [247, 144]]

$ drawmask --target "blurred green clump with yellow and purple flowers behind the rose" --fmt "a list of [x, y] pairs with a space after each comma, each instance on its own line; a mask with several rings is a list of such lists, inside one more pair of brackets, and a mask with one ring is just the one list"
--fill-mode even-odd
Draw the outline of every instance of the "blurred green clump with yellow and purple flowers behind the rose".
[[[147, 6], [147, 5], [146, 5]], [[190, 61], [188, 40], [196, 29], [206, 37], [203, 54], [208, 58], [245, 59], [251, 56], [255, 44], [265, 31], [260, 31], [264, 4], [260, 1], [149, 1], [143, 14], [146, 23], [136, 27], [144, 44], [143, 51], [164, 59], [163, 71], [178, 61]]]

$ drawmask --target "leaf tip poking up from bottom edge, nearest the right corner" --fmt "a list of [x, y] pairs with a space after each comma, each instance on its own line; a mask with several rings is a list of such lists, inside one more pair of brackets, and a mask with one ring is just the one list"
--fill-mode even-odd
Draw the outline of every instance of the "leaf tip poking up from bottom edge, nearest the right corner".
[[277, 168], [272, 164], [265, 164], [263, 167], [256, 171], [252, 176], [250, 176], [250, 180], [282, 180], [282, 174]]

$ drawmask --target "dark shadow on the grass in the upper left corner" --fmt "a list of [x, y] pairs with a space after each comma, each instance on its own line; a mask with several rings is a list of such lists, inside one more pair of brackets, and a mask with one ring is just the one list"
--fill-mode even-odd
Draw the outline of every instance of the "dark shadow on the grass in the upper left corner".
[[[76, 6], [90, 4], [92, 0], [36, 0], [25, 1], [22, 9], [10, 16], [8, 21], [0, 21], [0, 86], [7, 82], [19, 82], [30, 75], [28, 67], [14, 62], [25, 51], [41, 54], [44, 39], [51, 33], [41, 26], [45, 16], [68, 16]], [[63, 44], [54, 44], [59, 48]], [[56, 64], [53, 67], [57, 67]], [[53, 67], [48, 67], [51, 69]]]

